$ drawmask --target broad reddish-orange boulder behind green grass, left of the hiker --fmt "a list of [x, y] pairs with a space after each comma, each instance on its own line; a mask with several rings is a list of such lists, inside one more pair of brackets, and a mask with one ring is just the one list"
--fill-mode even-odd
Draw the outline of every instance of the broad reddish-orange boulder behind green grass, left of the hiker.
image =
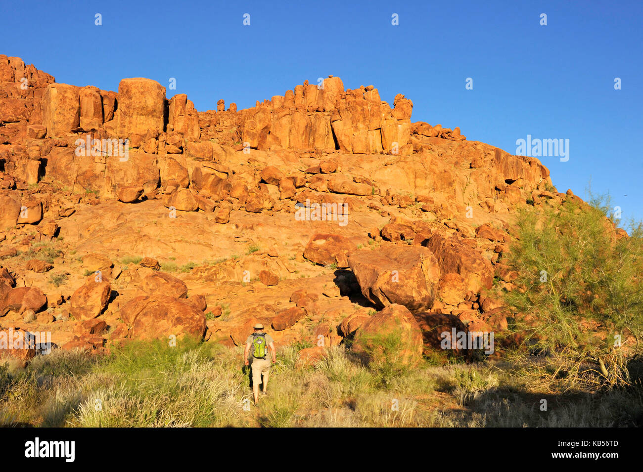
[[136, 297], [120, 310], [120, 318], [134, 339], [168, 340], [188, 335], [202, 338], [206, 330], [203, 311], [187, 300], [165, 295]]

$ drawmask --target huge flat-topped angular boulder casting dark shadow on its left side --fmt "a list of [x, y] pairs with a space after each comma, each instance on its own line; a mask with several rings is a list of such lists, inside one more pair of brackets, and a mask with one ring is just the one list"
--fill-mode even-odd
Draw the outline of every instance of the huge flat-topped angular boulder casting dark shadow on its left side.
[[397, 303], [411, 311], [425, 311], [433, 305], [440, 268], [433, 253], [424, 247], [359, 250], [349, 256], [349, 265], [361, 292], [376, 306]]

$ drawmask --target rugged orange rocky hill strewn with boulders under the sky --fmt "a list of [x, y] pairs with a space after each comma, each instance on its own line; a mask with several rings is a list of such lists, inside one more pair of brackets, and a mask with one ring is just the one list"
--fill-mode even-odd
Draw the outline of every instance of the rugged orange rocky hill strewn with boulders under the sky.
[[412, 108], [329, 76], [199, 112], [154, 80], [76, 87], [0, 55], [0, 326], [102, 351], [231, 346], [257, 320], [329, 346], [397, 320], [413, 356], [502, 332], [487, 290], [512, 288], [516, 210], [578, 197]]

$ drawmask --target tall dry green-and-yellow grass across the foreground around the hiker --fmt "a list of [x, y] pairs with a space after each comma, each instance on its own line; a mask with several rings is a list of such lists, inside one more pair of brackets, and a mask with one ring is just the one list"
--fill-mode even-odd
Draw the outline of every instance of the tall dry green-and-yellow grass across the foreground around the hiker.
[[[242, 348], [131, 342], [105, 356], [55, 350], [0, 368], [0, 425], [84, 427], [642, 426], [640, 390], [543, 393], [530, 365], [431, 365], [392, 378], [343, 347], [315, 365], [278, 352], [269, 394], [250, 405]], [[539, 408], [546, 398], [548, 410]], [[246, 408], [244, 408], [246, 406]]]

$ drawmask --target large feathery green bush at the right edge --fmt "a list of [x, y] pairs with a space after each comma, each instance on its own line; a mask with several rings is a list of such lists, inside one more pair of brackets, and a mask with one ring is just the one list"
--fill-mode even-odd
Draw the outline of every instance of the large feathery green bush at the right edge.
[[507, 254], [517, 288], [504, 297], [527, 315], [514, 331], [555, 361], [543, 370], [552, 378], [629, 383], [626, 363], [643, 333], [643, 226], [619, 236], [610, 208], [595, 198], [519, 215]]

